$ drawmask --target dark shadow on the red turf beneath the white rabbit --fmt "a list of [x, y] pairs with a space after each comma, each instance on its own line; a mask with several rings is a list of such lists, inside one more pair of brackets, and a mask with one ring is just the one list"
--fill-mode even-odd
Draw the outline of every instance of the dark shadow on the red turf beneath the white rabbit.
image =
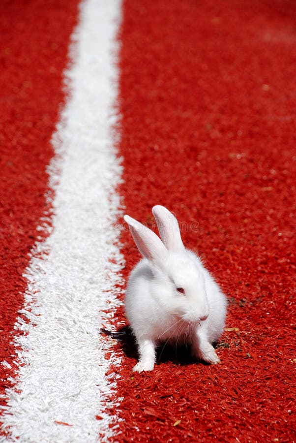
[[[123, 353], [128, 358], [138, 360], [139, 353], [137, 343], [131, 328], [129, 326], [123, 326], [118, 330], [117, 334]], [[156, 365], [169, 362], [178, 366], [197, 363], [197, 361], [191, 357], [189, 345], [169, 345], [168, 343], [162, 343], [156, 349]], [[207, 365], [205, 362], [200, 363]]]

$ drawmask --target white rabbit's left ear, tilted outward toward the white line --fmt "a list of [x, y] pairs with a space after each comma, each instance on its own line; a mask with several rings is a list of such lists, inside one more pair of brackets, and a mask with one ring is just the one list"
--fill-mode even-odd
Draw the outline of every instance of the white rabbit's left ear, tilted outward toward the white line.
[[129, 229], [140, 253], [149, 260], [163, 263], [168, 250], [160, 238], [147, 226], [139, 221], [125, 215], [124, 221], [129, 225]]

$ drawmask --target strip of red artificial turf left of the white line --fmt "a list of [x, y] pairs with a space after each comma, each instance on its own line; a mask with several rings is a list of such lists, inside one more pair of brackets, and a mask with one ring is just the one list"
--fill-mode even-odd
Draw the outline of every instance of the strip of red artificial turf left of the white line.
[[[0, 394], [17, 371], [12, 331], [23, 307], [22, 276], [50, 212], [46, 166], [63, 101], [62, 71], [77, 0], [0, 2]], [[3, 405], [0, 399], [0, 405]]]

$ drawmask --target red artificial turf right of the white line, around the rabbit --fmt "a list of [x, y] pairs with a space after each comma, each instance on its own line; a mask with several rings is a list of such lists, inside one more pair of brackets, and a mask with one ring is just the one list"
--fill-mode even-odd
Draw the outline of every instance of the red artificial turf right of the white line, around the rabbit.
[[[296, 3], [125, 0], [119, 37], [126, 213], [187, 222], [230, 304], [219, 365], [173, 348], [132, 373], [118, 345], [114, 442], [293, 442]], [[140, 257], [121, 241], [127, 278]]]

